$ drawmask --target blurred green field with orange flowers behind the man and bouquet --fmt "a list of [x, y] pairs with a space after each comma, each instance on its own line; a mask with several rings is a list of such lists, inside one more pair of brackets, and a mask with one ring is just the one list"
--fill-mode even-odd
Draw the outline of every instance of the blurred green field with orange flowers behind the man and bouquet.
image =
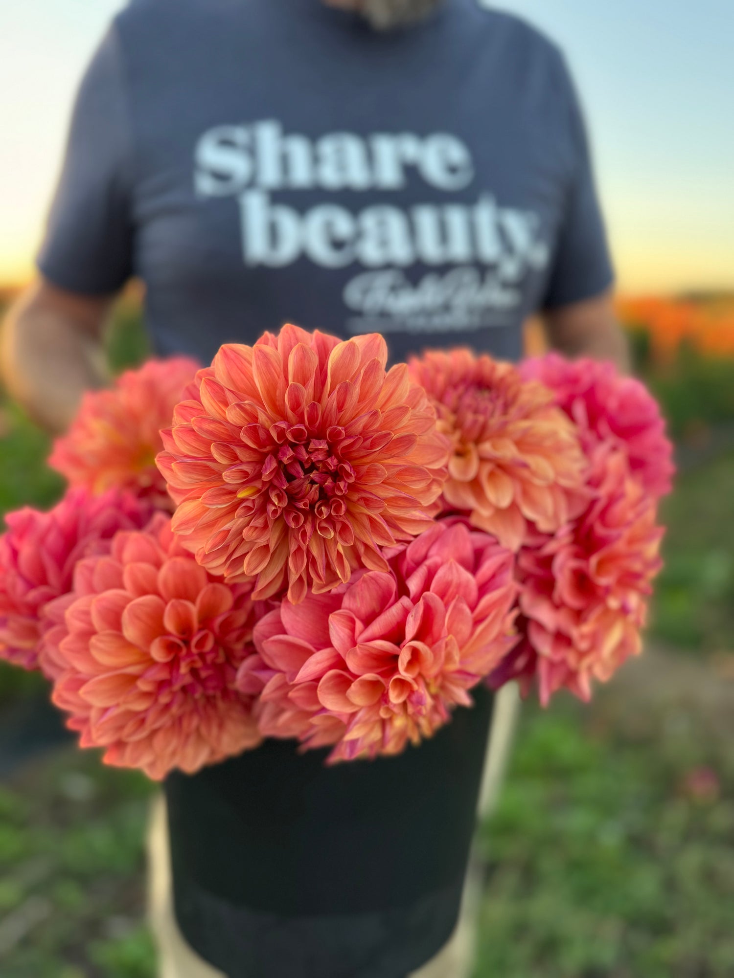
[[[621, 300], [619, 315], [682, 469], [649, 647], [591, 708], [524, 708], [482, 826], [477, 978], [734, 974], [734, 296]], [[109, 350], [116, 370], [148, 351], [134, 297]], [[57, 498], [47, 449], [2, 400], [0, 510]], [[33, 749], [58, 736], [45, 696], [0, 669], [0, 975], [154, 978], [151, 787], [70, 744]]]

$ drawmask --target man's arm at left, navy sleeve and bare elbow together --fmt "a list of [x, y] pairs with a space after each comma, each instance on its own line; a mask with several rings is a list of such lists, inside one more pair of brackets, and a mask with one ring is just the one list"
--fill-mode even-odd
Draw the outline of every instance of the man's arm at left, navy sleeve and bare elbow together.
[[82, 78], [61, 178], [38, 256], [40, 276], [11, 309], [0, 370], [11, 393], [52, 431], [83, 390], [107, 381], [102, 331], [133, 273], [133, 139], [115, 23]]

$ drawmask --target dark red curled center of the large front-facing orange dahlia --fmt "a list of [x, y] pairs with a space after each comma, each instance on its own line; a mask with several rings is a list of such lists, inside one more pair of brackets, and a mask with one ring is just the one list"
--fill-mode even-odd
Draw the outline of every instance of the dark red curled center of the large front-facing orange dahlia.
[[[344, 428], [334, 425], [326, 438], [314, 438], [302, 424], [278, 422], [269, 433], [275, 445], [258, 473], [259, 487], [240, 492], [245, 500], [240, 514], [252, 513], [264, 501], [271, 521], [283, 516], [291, 529], [298, 530], [312, 513], [321, 536], [331, 538], [336, 532], [340, 542], [352, 542], [346, 539], [351, 533], [344, 500], [355, 472], [342, 455]], [[255, 495], [257, 500], [248, 499]]]

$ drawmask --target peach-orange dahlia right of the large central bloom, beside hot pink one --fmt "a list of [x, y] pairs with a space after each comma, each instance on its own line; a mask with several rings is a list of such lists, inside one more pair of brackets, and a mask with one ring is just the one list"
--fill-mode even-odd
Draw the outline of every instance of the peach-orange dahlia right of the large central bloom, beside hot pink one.
[[585, 460], [548, 388], [466, 349], [429, 351], [410, 361], [410, 374], [453, 442], [443, 487], [448, 510], [469, 513], [513, 551], [528, 523], [553, 533], [576, 514]]

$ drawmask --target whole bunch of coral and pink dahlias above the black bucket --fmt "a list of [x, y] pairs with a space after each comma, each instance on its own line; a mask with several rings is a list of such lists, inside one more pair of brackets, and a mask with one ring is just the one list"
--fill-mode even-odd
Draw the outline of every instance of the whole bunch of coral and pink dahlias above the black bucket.
[[151, 778], [266, 737], [394, 755], [479, 684], [587, 699], [639, 651], [672, 473], [644, 387], [557, 355], [387, 361], [286, 326], [86, 395], [65, 498], [0, 538], [0, 656], [82, 746]]

